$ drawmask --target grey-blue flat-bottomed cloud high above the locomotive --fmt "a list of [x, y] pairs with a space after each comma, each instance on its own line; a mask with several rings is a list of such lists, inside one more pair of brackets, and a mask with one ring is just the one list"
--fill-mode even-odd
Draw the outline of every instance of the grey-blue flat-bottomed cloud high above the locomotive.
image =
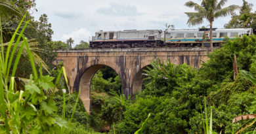
[[96, 10], [100, 14], [108, 16], [137, 16], [142, 13], [138, 12], [134, 5], [124, 5], [121, 3], [110, 3], [109, 7], [101, 7]]

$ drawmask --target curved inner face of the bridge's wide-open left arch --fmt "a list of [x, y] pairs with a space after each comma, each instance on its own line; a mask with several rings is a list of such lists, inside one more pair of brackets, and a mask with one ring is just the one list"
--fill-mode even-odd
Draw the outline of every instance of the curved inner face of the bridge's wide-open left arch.
[[[80, 99], [81, 101], [83, 101], [83, 105], [85, 107], [85, 109], [87, 110], [88, 113], [91, 112], [91, 81], [93, 79], [93, 76], [95, 76], [95, 73], [102, 67], [104, 66], [108, 66], [109, 65], [104, 65], [104, 64], [97, 64], [97, 65], [92, 65], [91, 67], [87, 67], [85, 69], [81, 69], [81, 71], [83, 71], [82, 75], [77, 76], [79, 77], [79, 88], [76, 89], [76, 91], [81, 90], [80, 92]], [[117, 75], [119, 75], [119, 73], [117, 72], [117, 70], [114, 67], [111, 67], [114, 71], [116, 71]], [[120, 79], [121, 76], [119, 75]], [[122, 79], [121, 79], [122, 81]], [[122, 87], [123, 87], [123, 82], [122, 83]]]

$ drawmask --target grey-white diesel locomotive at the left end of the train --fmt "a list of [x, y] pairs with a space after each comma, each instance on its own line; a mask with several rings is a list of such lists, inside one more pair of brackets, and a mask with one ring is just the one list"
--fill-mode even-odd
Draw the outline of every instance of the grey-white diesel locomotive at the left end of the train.
[[90, 48], [160, 47], [161, 30], [98, 31], [90, 41]]

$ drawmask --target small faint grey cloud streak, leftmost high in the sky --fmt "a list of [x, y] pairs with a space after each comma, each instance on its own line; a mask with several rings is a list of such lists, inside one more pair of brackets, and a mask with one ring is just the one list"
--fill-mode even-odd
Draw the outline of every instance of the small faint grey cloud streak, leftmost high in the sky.
[[83, 14], [81, 13], [66, 11], [66, 10], [57, 10], [57, 11], [54, 11], [53, 14], [61, 18], [79, 18], [83, 16]]

